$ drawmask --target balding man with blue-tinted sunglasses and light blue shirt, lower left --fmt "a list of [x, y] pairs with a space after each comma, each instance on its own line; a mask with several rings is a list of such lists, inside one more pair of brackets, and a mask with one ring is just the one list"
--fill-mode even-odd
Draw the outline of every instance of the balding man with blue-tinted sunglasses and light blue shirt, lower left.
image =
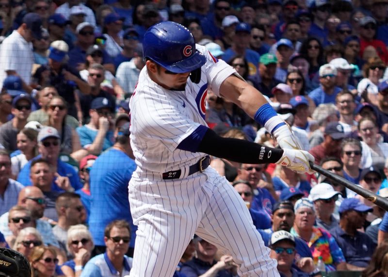
[[[46, 208], [46, 200], [42, 191], [35, 186], [25, 187], [19, 193], [17, 205], [24, 207], [31, 212], [31, 227], [34, 227], [39, 231], [42, 235], [43, 242], [47, 245], [59, 248], [58, 241], [52, 233], [51, 225], [47, 220], [42, 219]], [[0, 232], [4, 234], [5, 237], [12, 235], [12, 231], [8, 226], [8, 217], [9, 212], [0, 216]]]

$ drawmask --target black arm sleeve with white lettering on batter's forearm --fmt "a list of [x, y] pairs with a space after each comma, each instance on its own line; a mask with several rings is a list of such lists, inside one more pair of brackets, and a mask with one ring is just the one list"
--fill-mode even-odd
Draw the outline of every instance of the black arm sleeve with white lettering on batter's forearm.
[[203, 137], [198, 152], [227, 159], [237, 163], [276, 163], [283, 155], [283, 149], [271, 148], [257, 143], [224, 138], [208, 129]]

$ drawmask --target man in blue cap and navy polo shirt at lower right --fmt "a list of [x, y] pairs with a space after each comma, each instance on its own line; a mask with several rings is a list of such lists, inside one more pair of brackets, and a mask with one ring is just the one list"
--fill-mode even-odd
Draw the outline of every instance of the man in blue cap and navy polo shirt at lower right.
[[339, 226], [330, 230], [347, 261], [348, 270], [361, 271], [367, 267], [376, 244], [358, 229], [363, 228], [372, 207], [356, 198], [343, 199], [339, 206]]

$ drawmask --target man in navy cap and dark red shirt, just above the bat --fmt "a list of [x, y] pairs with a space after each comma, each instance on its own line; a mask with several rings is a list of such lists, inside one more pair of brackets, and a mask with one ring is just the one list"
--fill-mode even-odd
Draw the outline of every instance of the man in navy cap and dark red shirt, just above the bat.
[[321, 160], [327, 156], [339, 158], [341, 141], [345, 137], [342, 125], [337, 121], [330, 122], [324, 130], [323, 137], [324, 140], [321, 144], [308, 151], [314, 156], [316, 164], [320, 164]]

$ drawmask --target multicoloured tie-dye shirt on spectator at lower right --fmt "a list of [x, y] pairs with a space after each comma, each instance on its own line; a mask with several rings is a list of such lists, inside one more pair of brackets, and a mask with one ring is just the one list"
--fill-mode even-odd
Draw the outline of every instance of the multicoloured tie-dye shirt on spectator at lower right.
[[[294, 228], [291, 228], [291, 234], [299, 236]], [[317, 264], [318, 257], [322, 257], [327, 272], [335, 271], [335, 264], [346, 262], [336, 240], [323, 228], [313, 227], [310, 241], [307, 244], [310, 247], [314, 263]]]

